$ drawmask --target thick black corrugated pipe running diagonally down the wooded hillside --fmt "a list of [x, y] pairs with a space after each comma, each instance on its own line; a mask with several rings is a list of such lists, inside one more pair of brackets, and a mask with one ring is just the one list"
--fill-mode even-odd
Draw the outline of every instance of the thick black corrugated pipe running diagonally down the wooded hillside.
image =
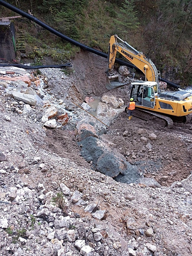
[[[70, 42], [71, 44], [74, 44], [74, 45], [80, 47], [83, 50], [86, 50], [86, 51], [91, 52], [91, 53], [95, 53], [95, 54], [107, 59], [107, 53], [103, 53], [99, 50], [93, 49], [93, 48], [91, 48], [91, 47], [89, 47], [85, 44], [82, 44], [78, 41], [75, 41], [72, 38], [69, 38], [68, 36], [62, 34], [61, 32], [59, 32], [55, 29], [53, 29], [52, 27], [48, 26], [47, 24], [45, 24], [41, 20], [38, 20], [37, 18], [35, 18], [31, 14], [28, 14], [28, 13], [20, 10], [19, 8], [15, 7], [14, 5], [11, 5], [11, 4], [7, 3], [6, 1], [3, 1], [3, 0], [0, 0], [0, 4], [3, 5], [4, 7], [8, 8], [8, 9], [10, 9], [11, 11], [16, 12], [17, 14], [20, 14], [21, 16], [26, 17], [29, 20], [32, 20], [33, 22], [37, 23], [39, 26], [43, 27], [44, 29], [48, 30], [49, 32], [53, 33], [54, 35], [57, 35], [58, 37]], [[133, 65], [133, 64], [127, 62], [127, 61], [123, 61], [122, 59], [119, 59], [119, 58], [116, 58], [115, 61], [117, 63], [119, 63], [120, 65], [125, 65], [129, 68], [134, 68], [138, 72], [141, 72], [139, 68], [137, 68], [135, 65]], [[170, 82], [166, 79], [161, 78], [160, 80], [163, 81], [163, 82], [166, 82], [168, 85], [172, 86], [173, 88], [176, 88], [176, 89], [179, 88], [179, 86], [177, 84], [172, 83], [172, 82]]]

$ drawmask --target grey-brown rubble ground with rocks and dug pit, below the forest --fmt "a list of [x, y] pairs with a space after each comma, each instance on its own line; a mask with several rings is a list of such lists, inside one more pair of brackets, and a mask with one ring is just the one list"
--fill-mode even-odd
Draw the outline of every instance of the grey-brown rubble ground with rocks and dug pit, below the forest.
[[0, 68], [0, 255], [192, 255], [192, 124], [128, 121], [107, 61], [72, 62]]

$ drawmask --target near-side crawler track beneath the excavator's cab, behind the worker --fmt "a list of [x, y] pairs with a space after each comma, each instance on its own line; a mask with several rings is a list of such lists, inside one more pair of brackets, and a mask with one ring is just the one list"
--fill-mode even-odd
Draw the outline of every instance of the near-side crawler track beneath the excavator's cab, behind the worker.
[[143, 119], [146, 121], [151, 121], [153, 123], [159, 124], [163, 127], [169, 128], [169, 129], [173, 127], [173, 120], [170, 117], [161, 115], [156, 112], [140, 110], [140, 109], [136, 108], [134, 110], [133, 115], [136, 117], [139, 117], [140, 119]]

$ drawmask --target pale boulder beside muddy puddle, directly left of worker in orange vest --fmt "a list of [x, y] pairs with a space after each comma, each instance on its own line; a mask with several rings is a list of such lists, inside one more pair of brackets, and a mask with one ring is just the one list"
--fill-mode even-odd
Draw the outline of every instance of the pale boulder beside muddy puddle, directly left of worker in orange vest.
[[108, 106], [105, 103], [99, 102], [97, 107], [97, 118], [104, 122], [104, 124], [108, 126], [111, 125], [117, 113], [118, 112], [114, 108]]

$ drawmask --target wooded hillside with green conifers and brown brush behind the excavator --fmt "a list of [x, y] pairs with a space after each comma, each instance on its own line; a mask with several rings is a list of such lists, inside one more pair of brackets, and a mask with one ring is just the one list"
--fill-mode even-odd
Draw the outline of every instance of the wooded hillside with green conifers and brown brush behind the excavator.
[[[134, 48], [146, 53], [164, 78], [192, 83], [191, 0], [8, 0], [30, 12], [61, 33], [107, 53], [111, 35], [117, 34]], [[14, 16], [0, 7], [0, 17]], [[25, 45], [26, 56], [36, 65], [66, 62], [79, 48], [51, 35], [26, 18], [15, 20], [17, 49]], [[23, 56], [23, 55], [22, 55]], [[118, 56], [122, 58], [121, 55]], [[47, 60], [48, 61], [48, 60]], [[22, 62], [22, 59], [21, 59]]]

